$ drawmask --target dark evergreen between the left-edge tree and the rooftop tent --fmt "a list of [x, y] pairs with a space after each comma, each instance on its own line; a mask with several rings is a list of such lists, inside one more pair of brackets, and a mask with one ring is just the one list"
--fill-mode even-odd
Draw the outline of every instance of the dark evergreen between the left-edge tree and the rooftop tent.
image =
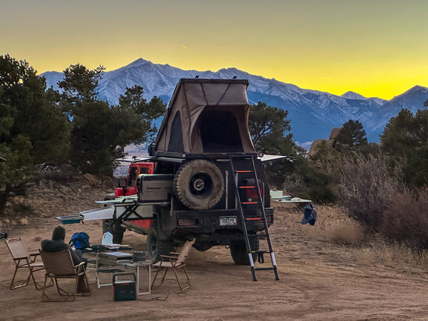
[[58, 86], [64, 90], [62, 106], [73, 125], [70, 159], [85, 173], [111, 175], [114, 159], [130, 143], [143, 143], [156, 133], [152, 121], [165, 113], [165, 104], [143, 98], [143, 88], [133, 86], [119, 97], [118, 106], [98, 101], [96, 87], [103, 67], [89, 71], [74, 65], [64, 71]]

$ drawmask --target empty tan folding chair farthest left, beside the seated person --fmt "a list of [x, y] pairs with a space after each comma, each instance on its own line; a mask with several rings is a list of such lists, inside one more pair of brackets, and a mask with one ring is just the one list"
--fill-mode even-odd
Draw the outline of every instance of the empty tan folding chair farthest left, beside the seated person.
[[[9, 248], [9, 252], [11, 253], [15, 263], [14, 277], [12, 277], [10, 287], [11, 290], [17, 289], [19, 287], [25, 287], [29, 284], [30, 280], [33, 280], [34, 286], [37, 290], [41, 290], [41, 285], [39, 285], [39, 283], [37, 283], [34, 279], [34, 272], [43, 270], [43, 263], [36, 262], [39, 253], [30, 254], [21, 238], [9, 238], [6, 240], [6, 245], [7, 248]], [[15, 278], [19, 269], [28, 269], [29, 276], [20, 285], [15, 285]]]

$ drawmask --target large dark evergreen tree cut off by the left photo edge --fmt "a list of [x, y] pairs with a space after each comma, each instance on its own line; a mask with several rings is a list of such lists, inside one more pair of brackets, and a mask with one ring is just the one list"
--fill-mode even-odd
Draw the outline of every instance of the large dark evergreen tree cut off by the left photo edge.
[[26, 61], [0, 56], [0, 210], [24, 193], [36, 165], [68, 151], [70, 127], [46, 81]]

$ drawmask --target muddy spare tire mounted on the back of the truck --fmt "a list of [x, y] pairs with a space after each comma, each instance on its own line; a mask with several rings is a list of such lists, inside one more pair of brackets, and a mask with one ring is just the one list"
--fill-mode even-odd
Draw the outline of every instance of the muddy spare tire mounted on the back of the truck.
[[173, 180], [173, 190], [186, 208], [209, 210], [223, 196], [225, 181], [215, 163], [195, 159], [178, 168]]

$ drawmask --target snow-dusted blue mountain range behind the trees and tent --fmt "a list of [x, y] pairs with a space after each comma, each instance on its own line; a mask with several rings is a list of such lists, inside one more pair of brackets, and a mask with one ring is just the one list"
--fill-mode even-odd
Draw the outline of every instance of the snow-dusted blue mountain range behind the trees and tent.
[[[42, 73], [48, 87], [58, 89], [56, 83], [63, 78], [63, 73], [49, 71]], [[322, 91], [302, 89], [291, 83], [255, 76], [237, 68], [223, 68], [219, 71], [182, 70], [168, 64], [156, 64], [142, 58], [132, 63], [103, 74], [97, 88], [98, 98], [111, 104], [118, 103], [118, 96], [126, 88], [139, 85], [144, 88], [143, 96], [150, 99], [158, 96], [168, 102], [175, 85], [180, 78], [233, 78], [248, 79], [248, 100], [250, 103], [264, 101], [269, 106], [285, 109], [289, 112], [292, 133], [297, 143], [305, 143], [317, 138], [328, 138], [333, 127], [343, 123], [359, 120], [365, 128], [369, 141], [379, 141], [379, 133], [389, 119], [396, 116], [401, 108], [411, 111], [423, 108], [428, 99], [428, 88], [414, 88], [394, 97], [391, 101], [381, 98], [365, 98], [348, 91], [342, 96]]]

